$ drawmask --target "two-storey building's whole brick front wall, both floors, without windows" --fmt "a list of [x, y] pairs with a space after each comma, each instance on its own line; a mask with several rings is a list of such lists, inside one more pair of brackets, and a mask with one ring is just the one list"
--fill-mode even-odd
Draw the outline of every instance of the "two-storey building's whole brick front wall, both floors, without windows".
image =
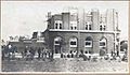
[[[110, 54], [112, 50], [115, 50], [115, 28], [117, 26], [117, 18], [116, 18], [116, 12], [114, 10], [106, 11], [105, 14], [100, 14], [99, 10], [92, 10], [90, 13], [80, 12], [77, 14], [78, 18], [72, 17], [72, 13], [62, 13], [61, 15], [53, 15], [51, 18], [51, 24], [48, 30], [44, 32], [44, 40], [48, 45], [48, 47], [54, 51], [54, 39], [56, 36], [61, 36], [63, 39], [62, 44], [62, 52], [70, 52], [70, 50], [77, 50], [78, 52], [80, 50], [91, 50], [93, 54], [99, 54], [101, 50], [100, 47], [100, 40], [102, 38], [106, 39], [107, 45], [106, 45], [106, 52]], [[54, 29], [54, 20], [61, 20], [62, 21], [62, 29]], [[72, 30], [70, 29], [70, 21], [77, 21], [77, 29]], [[115, 20], [115, 21], [114, 21]], [[86, 31], [86, 22], [92, 22], [91, 29]], [[100, 26], [101, 22], [103, 22], [106, 28], [105, 30], [101, 31]], [[79, 29], [80, 28], [80, 29]], [[54, 29], [51, 31], [50, 29]], [[62, 31], [63, 30], [63, 31]], [[65, 30], [65, 31], [64, 31]], [[78, 30], [84, 30], [78, 33]], [[98, 31], [98, 32], [93, 32]], [[107, 32], [113, 31], [113, 32]], [[80, 35], [79, 35], [80, 34]], [[75, 48], [69, 47], [69, 39], [70, 38], [77, 38], [78, 43]], [[92, 47], [84, 47], [84, 41], [86, 38], [91, 36], [92, 39]]]

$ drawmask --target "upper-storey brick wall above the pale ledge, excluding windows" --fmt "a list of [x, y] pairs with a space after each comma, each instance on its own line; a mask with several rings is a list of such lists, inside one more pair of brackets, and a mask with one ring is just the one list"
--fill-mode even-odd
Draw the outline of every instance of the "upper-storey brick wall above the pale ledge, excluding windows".
[[[70, 29], [70, 21], [75, 20], [77, 21], [80, 26], [80, 30], [86, 30], [84, 25], [88, 21], [92, 21], [92, 30], [100, 30], [100, 21], [101, 17], [103, 19], [103, 22], [106, 25], [106, 31], [114, 31], [117, 27], [117, 16], [116, 16], [116, 11], [114, 9], [107, 10], [106, 13], [103, 16], [100, 16], [99, 10], [92, 10], [91, 13], [80, 13], [78, 14], [78, 19], [76, 16], [72, 17], [70, 13], [62, 13], [62, 14], [56, 14], [53, 15], [49, 20], [48, 20], [48, 26], [49, 29], [54, 29], [54, 21], [55, 20], [61, 20], [63, 22], [62, 29]], [[77, 29], [79, 28], [77, 26]]]

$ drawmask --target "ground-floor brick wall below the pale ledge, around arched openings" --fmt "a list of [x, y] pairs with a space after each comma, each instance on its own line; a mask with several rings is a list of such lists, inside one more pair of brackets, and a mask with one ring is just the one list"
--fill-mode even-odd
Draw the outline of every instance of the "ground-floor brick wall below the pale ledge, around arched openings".
[[[99, 54], [100, 52], [100, 40], [104, 36], [107, 40], [107, 52], [110, 54], [112, 50], [114, 50], [114, 34], [112, 33], [89, 33], [89, 32], [81, 32], [80, 33], [80, 38], [78, 35], [77, 32], [50, 32], [49, 36], [50, 36], [50, 48], [54, 50], [54, 38], [56, 36], [61, 36], [64, 41], [64, 44], [62, 46], [62, 50], [63, 52], [69, 52], [70, 50], [83, 50], [84, 49], [84, 41], [86, 38], [91, 36], [92, 38], [92, 42], [93, 42], [93, 46], [91, 48], [93, 54]], [[78, 47], [77, 48], [69, 48], [69, 39], [70, 38], [77, 38], [78, 39]], [[80, 40], [79, 40], [80, 39]]]

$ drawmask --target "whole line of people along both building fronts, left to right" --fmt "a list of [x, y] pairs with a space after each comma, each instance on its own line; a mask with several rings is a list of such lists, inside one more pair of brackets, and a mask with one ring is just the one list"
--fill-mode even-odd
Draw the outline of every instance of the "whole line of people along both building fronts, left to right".
[[[34, 60], [34, 58], [37, 58], [38, 60], [44, 60], [47, 58], [52, 58], [52, 51], [49, 50], [46, 47], [25, 47], [22, 51], [18, 51], [16, 46], [4, 46], [2, 47], [2, 59], [8, 59], [8, 60], [12, 60], [12, 59], [16, 59], [17, 54], [20, 56], [22, 56], [23, 59], [25, 60]], [[77, 51], [72, 51], [69, 54], [61, 54], [60, 58], [76, 58], [77, 57]], [[96, 60], [98, 57], [93, 57], [93, 56], [86, 56], [86, 54], [81, 52], [79, 55], [80, 58], [83, 58], [84, 61], [93, 59]], [[119, 52], [115, 54], [114, 51], [112, 51], [110, 57], [108, 55], [102, 57], [103, 59], [107, 60], [116, 60], [117, 58], [121, 59], [122, 61], [128, 61], [127, 56], [123, 55], [123, 57], [119, 56]], [[101, 59], [102, 59], [101, 58]]]

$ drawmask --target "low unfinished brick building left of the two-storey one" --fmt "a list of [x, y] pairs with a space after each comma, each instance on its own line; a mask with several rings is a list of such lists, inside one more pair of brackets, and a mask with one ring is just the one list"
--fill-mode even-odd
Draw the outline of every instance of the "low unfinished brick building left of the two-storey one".
[[43, 32], [34, 32], [31, 39], [26, 36], [10, 38], [8, 45], [16, 47], [17, 52], [22, 52], [25, 48], [29, 49], [30, 47], [36, 51], [39, 48], [46, 48]]

